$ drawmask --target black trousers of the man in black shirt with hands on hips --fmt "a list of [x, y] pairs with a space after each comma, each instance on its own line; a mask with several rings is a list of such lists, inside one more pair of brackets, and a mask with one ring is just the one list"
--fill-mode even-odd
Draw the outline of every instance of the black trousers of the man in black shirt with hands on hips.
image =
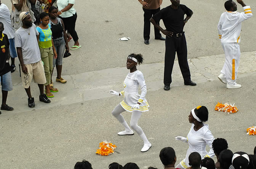
[[165, 85], [171, 84], [171, 73], [173, 71], [176, 52], [184, 83], [191, 80], [189, 64], [187, 63], [187, 42], [185, 34], [182, 33], [182, 36], [179, 37], [174, 37], [175, 35], [173, 34], [170, 38], [166, 36], [165, 39], [165, 72], [163, 78]]

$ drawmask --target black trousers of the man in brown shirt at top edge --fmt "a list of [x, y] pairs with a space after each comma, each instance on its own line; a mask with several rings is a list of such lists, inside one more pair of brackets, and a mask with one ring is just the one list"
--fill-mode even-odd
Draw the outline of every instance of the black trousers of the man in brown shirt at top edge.
[[[144, 11], [144, 32], [143, 32], [143, 36], [144, 36], [144, 40], [149, 40], [149, 34], [150, 34], [150, 25], [151, 22], [149, 21], [149, 19], [156, 13], [158, 13], [160, 11], [160, 8], [158, 9], [144, 9], [142, 8]], [[157, 22], [157, 24], [159, 25], [159, 22]], [[155, 30], [155, 38], [161, 38], [161, 34], [160, 31], [154, 27]]]

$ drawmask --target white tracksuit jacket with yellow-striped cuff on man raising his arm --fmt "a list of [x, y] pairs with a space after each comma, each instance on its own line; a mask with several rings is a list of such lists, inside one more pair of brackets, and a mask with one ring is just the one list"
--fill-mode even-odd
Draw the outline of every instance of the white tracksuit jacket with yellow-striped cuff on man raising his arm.
[[221, 43], [239, 43], [242, 22], [253, 16], [250, 6], [243, 7], [244, 12], [225, 11], [218, 23], [219, 39]]

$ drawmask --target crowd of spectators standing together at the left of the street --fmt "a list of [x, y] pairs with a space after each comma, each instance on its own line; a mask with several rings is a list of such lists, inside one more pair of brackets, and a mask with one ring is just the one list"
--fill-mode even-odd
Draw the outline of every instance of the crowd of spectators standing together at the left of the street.
[[[8, 91], [13, 89], [11, 73], [16, 70], [15, 58], [20, 62], [22, 86], [28, 96], [28, 106], [35, 106], [30, 92], [32, 79], [38, 84], [39, 100], [50, 103], [54, 97], [52, 73], [56, 66], [56, 82], [66, 83], [61, 77], [62, 59], [70, 56], [68, 42], [74, 39], [70, 50], [81, 47], [75, 31], [77, 13], [73, 7], [75, 0], [38, 0], [47, 3], [46, 12], [40, 13], [35, 7], [37, 0], [11, 0], [11, 14], [0, 0], [0, 81], [2, 86], [1, 110], [11, 111], [6, 104]], [[68, 31], [67, 34], [66, 30]], [[67, 57], [67, 56], [66, 56]], [[11, 58], [11, 64], [9, 60]], [[1, 114], [1, 112], [0, 112]]]

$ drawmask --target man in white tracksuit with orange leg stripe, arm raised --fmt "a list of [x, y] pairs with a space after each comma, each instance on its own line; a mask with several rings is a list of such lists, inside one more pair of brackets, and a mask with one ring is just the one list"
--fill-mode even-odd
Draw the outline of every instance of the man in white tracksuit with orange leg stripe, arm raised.
[[237, 0], [243, 6], [243, 13], [237, 12], [237, 5], [234, 1], [225, 2], [227, 11], [221, 14], [218, 23], [219, 39], [225, 53], [225, 63], [222, 67], [219, 80], [227, 84], [228, 89], [241, 88], [236, 83], [237, 70], [240, 60], [240, 33], [242, 22], [253, 16], [250, 6], [246, 6], [242, 0]]

